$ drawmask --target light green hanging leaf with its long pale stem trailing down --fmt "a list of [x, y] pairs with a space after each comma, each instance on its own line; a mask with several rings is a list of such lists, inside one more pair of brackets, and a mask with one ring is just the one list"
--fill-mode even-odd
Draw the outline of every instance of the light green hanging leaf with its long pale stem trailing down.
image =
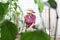
[[46, 31], [45, 24], [44, 24], [44, 21], [43, 21], [43, 18], [42, 18], [42, 12], [43, 12], [43, 9], [44, 9], [44, 5], [41, 2], [41, 0], [34, 0], [34, 2], [35, 2], [35, 4], [38, 5], [38, 11], [39, 11], [39, 14], [40, 14], [40, 18], [42, 20], [42, 25], [43, 25], [44, 30]]

